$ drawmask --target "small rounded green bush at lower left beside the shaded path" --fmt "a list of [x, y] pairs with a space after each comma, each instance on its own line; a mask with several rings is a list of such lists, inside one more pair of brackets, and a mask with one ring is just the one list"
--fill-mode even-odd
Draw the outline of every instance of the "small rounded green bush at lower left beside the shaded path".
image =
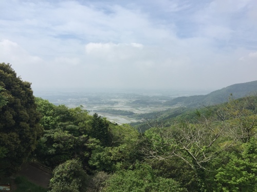
[[82, 192], [86, 191], [87, 174], [79, 160], [68, 160], [53, 170], [49, 192]]

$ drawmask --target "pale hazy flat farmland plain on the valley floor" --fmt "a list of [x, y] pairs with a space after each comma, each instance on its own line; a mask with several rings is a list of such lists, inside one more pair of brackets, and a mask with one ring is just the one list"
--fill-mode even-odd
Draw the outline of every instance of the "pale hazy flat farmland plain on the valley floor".
[[[179, 96], [189, 96], [194, 94], [207, 94], [206, 92], [89, 92], [89, 93], [64, 93], [64, 92], [38, 92], [36, 97], [47, 99], [53, 104], [65, 104], [69, 108], [83, 106], [90, 115], [94, 113], [107, 118], [118, 124], [131, 123], [140, 121], [131, 115], [117, 114], [121, 110], [124, 112], [133, 112], [135, 114], [150, 113], [164, 111], [170, 109], [171, 106], [165, 106], [162, 103], [172, 100]], [[103, 112], [112, 110], [114, 113]]]

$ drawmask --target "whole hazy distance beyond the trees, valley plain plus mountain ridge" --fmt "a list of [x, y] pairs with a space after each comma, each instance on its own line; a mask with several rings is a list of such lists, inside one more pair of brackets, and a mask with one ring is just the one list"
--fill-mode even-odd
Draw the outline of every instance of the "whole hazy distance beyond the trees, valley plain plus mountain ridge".
[[90, 115], [98, 113], [108, 120], [122, 124], [141, 121], [136, 114], [166, 111], [180, 106], [201, 107], [228, 101], [233, 98], [244, 97], [257, 91], [257, 81], [238, 83], [215, 90], [179, 91], [179, 90], [126, 90], [106, 92], [36, 92], [35, 95], [47, 99], [53, 104], [64, 104], [69, 108], [83, 106]]

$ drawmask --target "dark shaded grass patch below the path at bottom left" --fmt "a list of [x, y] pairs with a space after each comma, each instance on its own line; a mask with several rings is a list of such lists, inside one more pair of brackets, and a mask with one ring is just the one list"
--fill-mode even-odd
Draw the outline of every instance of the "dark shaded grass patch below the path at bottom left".
[[31, 183], [28, 179], [22, 176], [18, 176], [14, 180], [16, 184], [16, 190], [14, 192], [47, 192], [48, 189], [43, 188], [39, 185]]

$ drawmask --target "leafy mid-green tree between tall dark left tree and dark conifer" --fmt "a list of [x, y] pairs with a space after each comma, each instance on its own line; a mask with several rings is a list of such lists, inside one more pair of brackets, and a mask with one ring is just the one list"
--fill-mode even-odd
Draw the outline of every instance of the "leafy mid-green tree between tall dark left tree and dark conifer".
[[82, 106], [68, 109], [65, 105], [53, 105], [48, 100], [36, 98], [41, 124], [45, 128], [34, 157], [49, 167], [55, 167], [73, 157], [87, 161], [87, 132], [92, 118]]

